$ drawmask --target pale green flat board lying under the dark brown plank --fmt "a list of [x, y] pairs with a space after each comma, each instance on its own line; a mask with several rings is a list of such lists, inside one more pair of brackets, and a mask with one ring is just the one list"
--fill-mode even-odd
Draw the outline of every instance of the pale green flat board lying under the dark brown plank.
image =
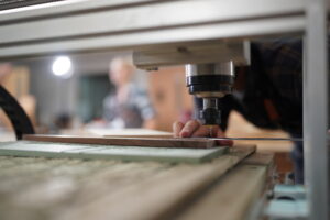
[[158, 161], [173, 163], [200, 163], [218, 157], [228, 147], [212, 148], [175, 148], [175, 147], [140, 147], [140, 146], [109, 146], [72, 143], [18, 141], [0, 143], [2, 156], [43, 156], [70, 157], [87, 160], [121, 160], [121, 161]]

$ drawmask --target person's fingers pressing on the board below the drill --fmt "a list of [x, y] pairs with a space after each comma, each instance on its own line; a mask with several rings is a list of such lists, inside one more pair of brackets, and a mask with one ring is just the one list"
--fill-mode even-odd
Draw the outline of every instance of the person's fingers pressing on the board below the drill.
[[[210, 132], [210, 127], [201, 125], [197, 120], [190, 120], [186, 124], [179, 121], [174, 122], [173, 134], [175, 138], [202, 138], [210, 135], [211, 138], [224, 138], [222, 130], [218, 125], [212, 125]], [[233, 145], [231, 140], [218, 140], [217, 142], [220, 145]]]

